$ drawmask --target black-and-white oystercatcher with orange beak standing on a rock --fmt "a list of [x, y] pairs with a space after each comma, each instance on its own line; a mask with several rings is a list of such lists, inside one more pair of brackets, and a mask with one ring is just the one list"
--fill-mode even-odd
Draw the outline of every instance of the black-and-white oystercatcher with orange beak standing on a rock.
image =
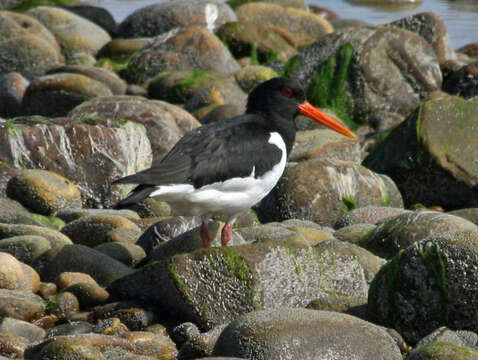
[[190, 131], [151, 168], [114, 181], [139, 184], [117, 207], [158, 197], [178, 215], [201, 216], [204, 247], [211, 244], [208, 220], [224, 214], [228, 220], [221, 244], [227, 245], [238, 215], [264, 198], [282, 176], [299, 114], [356, 137], [308, 103], [300, 83], [274, 78], [250, 93], [244, 115]]

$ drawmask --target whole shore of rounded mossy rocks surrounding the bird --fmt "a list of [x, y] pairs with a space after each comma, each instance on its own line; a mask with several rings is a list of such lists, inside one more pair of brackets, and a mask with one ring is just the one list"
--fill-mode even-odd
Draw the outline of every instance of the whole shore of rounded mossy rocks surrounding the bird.
[[[393, 2], [393, 1], [392, 1]], [[478, 40], [478, 39], [477, 39]], [[200, 219], [111, 185], [300, 79], [278, 186]], [[478, 359], [478, 42], [305, 0], [0, 0], [0, 360]]]

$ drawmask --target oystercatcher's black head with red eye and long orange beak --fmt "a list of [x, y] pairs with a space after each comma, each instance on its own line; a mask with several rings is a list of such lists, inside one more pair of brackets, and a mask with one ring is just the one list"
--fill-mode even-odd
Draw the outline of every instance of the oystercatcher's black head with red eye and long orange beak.
[[294, 121], [297, 115], [307, 116], [326, 127], [356, 138], [347, 127], [310, 104], [305, 97], [304, 87], [294, 79], [278, 77], [264, 81], [249, 94], [248, 113], [262, 113], [274, 119]]

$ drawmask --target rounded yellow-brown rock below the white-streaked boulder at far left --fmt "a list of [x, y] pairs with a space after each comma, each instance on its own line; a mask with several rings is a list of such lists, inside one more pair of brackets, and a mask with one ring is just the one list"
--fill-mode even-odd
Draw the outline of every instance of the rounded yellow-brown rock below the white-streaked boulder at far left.
[[68, 179], [46, 170], [23, 170], [10, 179], [7, 196], [43, 215], [81, 207], [80, 190]]

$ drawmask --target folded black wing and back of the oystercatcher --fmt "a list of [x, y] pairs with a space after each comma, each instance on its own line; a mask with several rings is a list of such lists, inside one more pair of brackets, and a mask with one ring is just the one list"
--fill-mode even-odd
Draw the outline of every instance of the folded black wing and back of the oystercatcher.
[[240, 122], [232, 118], [201, 126], [186, 134], [151, 168], [114, 183], [141, 184], [135, 190], [145, 193], [148, 187], [167, 184], [199, 188], [231, 177], [249, 176], [253, 169], [256, 177], [261, 176], [280, 161], [282, 152], [269, 143], [270, 131], [255, 117], [243, 115]]

